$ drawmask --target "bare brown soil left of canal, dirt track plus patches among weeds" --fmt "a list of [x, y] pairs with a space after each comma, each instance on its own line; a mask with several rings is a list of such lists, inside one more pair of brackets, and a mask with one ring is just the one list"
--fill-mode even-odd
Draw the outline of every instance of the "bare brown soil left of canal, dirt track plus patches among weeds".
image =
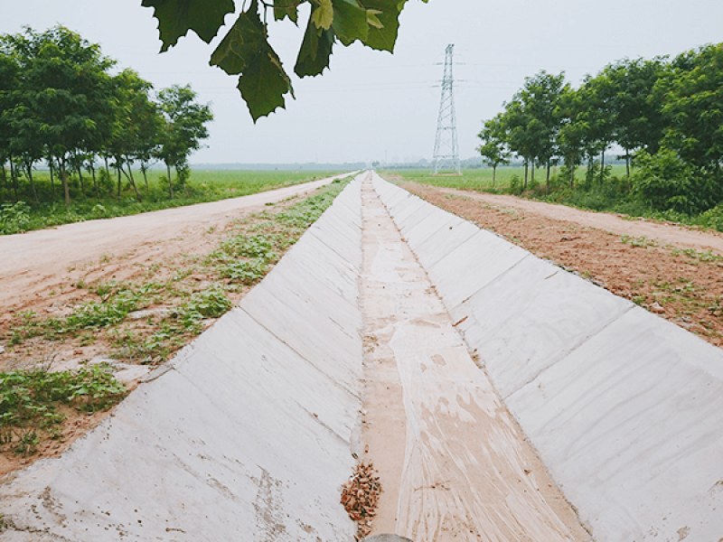
[[[9, 344], [11, 329], [22, 324], [26, 313], [64, 316], [77, 304], [100, 301], [99, 295], [88, 288], [99, 281], [145, 284], [150, 280], [167, 280], [193, 267], [192, 274], [179, 281], [177, 287], [189, 293], [201, 290], [213, 277], [205, 275], [202, 267], [194, 263], [199, 256], [217, 248], [227, 232], [239, 229], [239, 225], [248, 228], [258, 221], [253, 218], [254, 213], [277, 212], [298, 201], [296, 196], [312, 192], [331, 180], [232, 200], [0, 237], [3, 255], [0, 258], [0, 371], [39, 366], [51, 370], [76, 369], [93, 358], [111, 357], [124, 363], [126, 368], [135, 368], [126, 371], [128, 378], [117, 373], [117, 378], [125, 381], [128, 389], [135, 388], [138, 379], [152, 367], [144, 371], [136, 364], [148, 360], [124, 355], [124, 350], [118, 348], [117, 337], [142, 341], [158, 330], [148, 318], [123, 322], [112, 330], [79, 332], [54, 340], [38, 336], [17, 345]], [[228, 296], [236, 304], [248, 291], [249, 287], [243, 287]], [[150, 318], [157, 323], [162, 316]], [[206, 325], [212, 322], [212, 319], [204, 321]], [[192, 334], [179, 336], [171, 351], [182, 348], [192, 338]], [[150, 361], [155, 364], [160, 359]], [[70, 407], [63, 408], [62, 413], [67, 417], [61, 425], [61, 434], [55, 440], [43, 440], [37, 453], [18, 455], [9, 451], [7, 444], [0, 448], [0, 477], [42, 457], [61, 453], [109, 412], [112, 411], [89, 416]]]

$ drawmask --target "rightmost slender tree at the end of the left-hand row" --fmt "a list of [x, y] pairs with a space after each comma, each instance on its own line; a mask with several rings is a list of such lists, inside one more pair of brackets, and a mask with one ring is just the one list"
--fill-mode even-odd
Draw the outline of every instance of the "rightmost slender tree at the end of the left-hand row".
[[201, 148], [201, 141], [209, 136], [206, 124], [213, 120], [211, 107], [198, 104], [196, 93], [190, 86], [174, 85], [158, 93], [161, 110], [165, 117], [165, 131], [162, 144], [157, 151], [168, 172], [168, 190], [174, 197], [174, 183], [171, 166], [176, 173], [186, 167], [188, 156]]

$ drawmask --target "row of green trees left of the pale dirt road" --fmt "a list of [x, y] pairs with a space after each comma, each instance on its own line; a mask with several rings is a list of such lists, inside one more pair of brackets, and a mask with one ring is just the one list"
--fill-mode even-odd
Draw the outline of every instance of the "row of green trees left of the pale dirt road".
[[125, 176], [140, 201], [132, 165], [140, 164], [146, 177], [149, 165], [162, 161], [174, 196], [171, 168], [183, 179], [188, 156], [208, 137], [211, 108], [197, 103], [188, 86], [154, 96], [151, 83], [133, 70], [111, 75], [114, 65], [99, 45], [62, 26], [0, 35], [0, 180], [14, 187], [15, 199], [24, 176], [38, 200], [33, 168], [39, 163], [50, 167], [53, 192], [60, 178], [67, 204], [70, 172], [83, 192], [83, 170], [89, 172], [98, 195], [100, 162], [105, 173], [115, 168], [118, 195]]

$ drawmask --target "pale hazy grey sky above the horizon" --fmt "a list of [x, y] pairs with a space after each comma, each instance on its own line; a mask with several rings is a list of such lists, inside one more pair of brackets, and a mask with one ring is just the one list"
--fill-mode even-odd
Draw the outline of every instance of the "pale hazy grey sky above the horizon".
[[[242, 2], [237, 0], [237, 13]], [[293, 75], [299, 27], [271, 23], [270, 42], [292, 75], [295, 99], [254, 124], [237, 78], [208, 65], [211, 45], [189, 33], [159, 54], [153, 10], [140, 0], [0, 0], [0, 33], [61, 23], [99, 43], [117, 70], [131, 68], [155, 89], [190, 84], [214, 121], [192, 164], [431, 161], [445, 49], [455, 44], [460, 158], [476, 154], [484, 120], [540, 70], [564, 71], [573, 86], [623, 58], [677, 55], [723, 42], [720, 0], [409, 0], [394, 54], [337, 44], [331, 70]]]

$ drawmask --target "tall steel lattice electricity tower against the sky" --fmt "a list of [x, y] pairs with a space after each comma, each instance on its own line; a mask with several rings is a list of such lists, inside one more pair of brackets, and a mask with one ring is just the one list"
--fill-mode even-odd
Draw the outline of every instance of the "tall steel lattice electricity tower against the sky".
[[454, 170], [458, 175], [459, 151], [457, 150], [457, 126], [455, 119], [455, 78], [452, 76], [452, 61], [455, 45], [446, 46], [445, 78], [442, 79], [442, 98], [439, 101], [437, 137], [435, 139], [434, 173]]

